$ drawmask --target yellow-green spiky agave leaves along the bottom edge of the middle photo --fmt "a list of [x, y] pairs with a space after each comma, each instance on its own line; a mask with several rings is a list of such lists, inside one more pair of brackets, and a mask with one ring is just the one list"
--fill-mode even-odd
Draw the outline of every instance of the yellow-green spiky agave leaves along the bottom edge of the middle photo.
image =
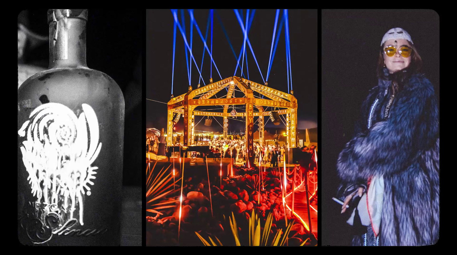
[[[225, 216], [224, 216], [224, 218], [225, 218]], [[240, 239], [239, 239], [239, 234], [238, 234], [238, 227], [237, 227], [236, 220], [235, 220], [233, 212], [232, 212], [232, 217], [229, 217], [229, 222], [230, 222], [231, 232], [232, 232], [233, 237], [235, 239], [235, 244], [236, 244], [236, 246], [241, 246]], [[266, 218], [266, 223], [265, 223], [265, 226], [263, 228], [262, 236], [260, 238], [260, 218], [258, 217], [258, 215], [256, 213], [254, 213], [254, 210], [252, 210], [252, 215], [251, 215], [251, 217], [249, 219], [249, 225], [248, 225], [248, 228], [249, 228], [248, 229], [248, 231], [249, 231], [249, 246], [268, 246], [268, 237], [270, 235], [271, 224], [272, 224], [272, 217], [271, 217], [271, 213], [270, 213], [268, 215], [268, 217]], [[284, 246], [285, 244], [287, 244], [287, 239], [288, 239], [287, 236], [289, 235], [289, 232], [290, 232], [290, 229], [292, 228], [292, 225], [293, 225], [293, 222], [290, 222], [287, 225], [287, 228], [286, 228], [286, 230], [284, 232], [282, 232], [282, 228], [278, 229], [278, 231], [276, 231], [276, 235], [273, 238], [273, 240], [272, 240], [270, 245], [271, 246]], [[198, 234], [197, 232], [195, 232], [195, 234], [197, 234], [198, 238], [202, 241], [202, 243], [205, 246], [218, 246], [213, 241], [213, 239], [211, 239], [211, 237], [208, 237], [210, 242], [211, 242], [211, 244], [210, 244], [200, 234]], [[281, 238], [281, 236], [282, 236], [282, 238]], [[219, 239], [216, 236], [214, 236], [214, 238], [218, 241], [220, 246], [223, 246], [222, 243], [219, 241]], [[302, 244], [300, 244], [300, 246], [303, 246], [303, 244], [305, 244], [309, 240], [310, 240], [309, 238], [306, 239]]]

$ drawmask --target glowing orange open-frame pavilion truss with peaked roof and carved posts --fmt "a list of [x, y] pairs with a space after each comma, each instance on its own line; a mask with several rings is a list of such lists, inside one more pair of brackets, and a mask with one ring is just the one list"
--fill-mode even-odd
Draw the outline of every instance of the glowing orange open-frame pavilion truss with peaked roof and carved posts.
[[[214, 98], [219, 91], [227, 88], [227, 96], [222, 98]], [[244, 97], [234, 97], [234, 91], [243, 92]], [[253, 92], [260, 93], [266, 98], [255, 98]], [[226, 79], [213, 82], [209, 85], [197, 88], [195, 90], [189, 86], [186, 94], [173, 97], [168, 102], [168, 124], [167, 124], [167, 146], [172, 146], [173, 141], [173, 113], [181, 113], [184, 117], [184, 146], [194, 144], [194, 117], [195, 116], [214, 116], [223, 117], [223, 138], [227, 138], [228, 117], [246, 117], [246, 135], [244, 136], [248, 153], [246, 154], [250, 164], [254, 164], [254, 119], [257, 119], [259, 126], [260, 145], [264, 144], [264, 117], [269, 117], [271, 111], [264, 111], [267, 107], [272, 109], [279, 108], [274, 111], [279, 115], [286, 115], [285, 125], [287, 128], [287, 143], [290, 148], [297, 146], [297, 99], [291, 94], [287, 94], [280, 90], [261, 85], [244, 78], [237, 76], [228, 77]], [[198, 98], [197, 98], [198, 97]], [[246, 108], [245, 112], [237, 112], [232, 115], [228, 112], [230, 106], [243, 105]], [[223, 106], [223, 112], [197, 111], [198, 106]], [[254, 108], [258, 112], [254, 112]]]

